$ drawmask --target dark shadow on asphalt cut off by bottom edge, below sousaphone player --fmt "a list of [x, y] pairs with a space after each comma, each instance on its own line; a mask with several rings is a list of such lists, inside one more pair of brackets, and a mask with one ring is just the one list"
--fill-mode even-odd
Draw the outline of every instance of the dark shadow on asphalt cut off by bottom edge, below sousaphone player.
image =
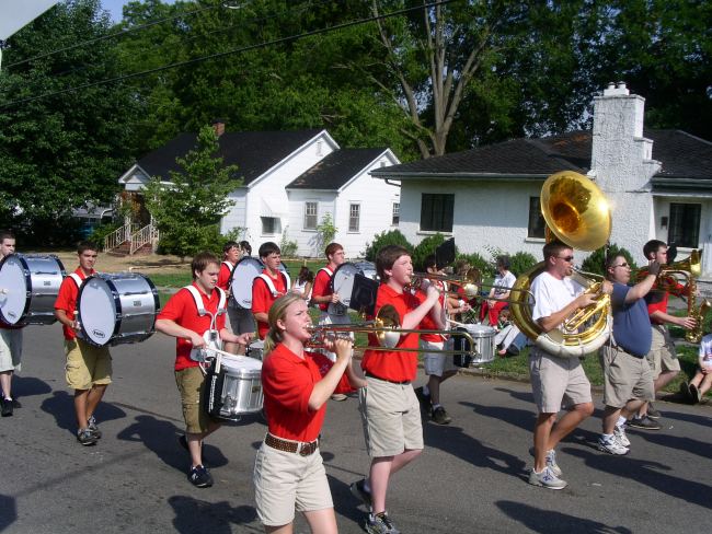
[[518, 521], [532, 532], [551, 533], [571, 533], [586, 532], [587, 534], [631, 534], [632, 531], [624, 526], [609, 526], [598, 521], [576, 518], [561, 512], [541, 510], [540, 508], [530, 507], [515, 501], [496, 501], [495, 504], [499, 510], [509, 518]]

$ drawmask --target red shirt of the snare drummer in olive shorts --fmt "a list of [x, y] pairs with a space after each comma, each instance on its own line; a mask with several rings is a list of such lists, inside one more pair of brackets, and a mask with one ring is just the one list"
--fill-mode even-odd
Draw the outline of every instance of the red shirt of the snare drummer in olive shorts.
[[[200, 293], [203, 299], [203, 305], [205, 309], [215, 314], [218, 311], [218, 304], [220, 303], [220, 293], [218, 290], [213, 290], [210, 297], [206, 295], [198, 286], [193, 282], [193, 286]], [[157, 320], [166, 318], [173, 321], [179, 326], [193, 330], [200, 336], [205, 334], [205, 330], [210, 328], [210, 315], [206, 314], [204, 316], [198, 315], [198, 310], [195, 306], [195, 300], [191, 292], [183, 288], [180, 289], [177, 293], [170, 298], [170, 300], [161, 310], [161, 313], [158, 314]], [[216, 328], [220, 332], [225, 328], [225, 314], [218, 316], [216, 321]], [[175, 338], [175, 370], [180, 371], [182, 369], [197, 367], [198, 362], [191, 360], [191, 350], [193, 349], [193, 344], [187, 339], [182, 337]]]

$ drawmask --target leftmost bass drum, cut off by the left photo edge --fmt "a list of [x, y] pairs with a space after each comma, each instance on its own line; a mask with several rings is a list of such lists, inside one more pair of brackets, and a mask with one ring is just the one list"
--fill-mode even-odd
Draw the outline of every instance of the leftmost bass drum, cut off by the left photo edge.
[[0, 263], [0, 320], [9, 325], [50, 325], [65, 278], [57, 256], [10, 254]]

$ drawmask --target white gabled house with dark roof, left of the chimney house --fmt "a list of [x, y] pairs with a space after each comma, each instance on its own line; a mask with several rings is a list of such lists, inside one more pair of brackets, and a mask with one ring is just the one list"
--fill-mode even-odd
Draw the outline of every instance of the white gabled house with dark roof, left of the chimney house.
[[[298, 244], [301, 256], [322, 256], [317, 227], [331, 214], [335, 240], [356, 257], [374, 235], [398, 224], [398, 185], [374, 178], [376, 169], [399, 163], [390, 149], [341, 149], [326, 130], [225, 132], [216, 123], [219, 153], [237, 164], [243, 185], [230, 194], [234, 205], [221, 231], [239, 229], [256, 249], [261, 243]], [[141, 189], [151, 176], [169, 179], [176, 156], [194, 148], [195, 134], [182, 134], [134, 164], [120, 178], [125, 195], [142, 207]], [[143, 224], [150, 223], [145, 208]], [[256, 246], [255, 246], [256, 245]]]

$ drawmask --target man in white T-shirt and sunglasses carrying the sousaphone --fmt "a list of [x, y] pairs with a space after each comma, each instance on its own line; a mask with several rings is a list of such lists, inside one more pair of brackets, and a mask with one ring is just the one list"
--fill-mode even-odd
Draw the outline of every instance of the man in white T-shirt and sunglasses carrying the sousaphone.
[[[571, 246], [552, 241], [543, 247], [546, 270], [531, 282], [535, 305], [531, 318], [541, 329], [553, 330], [576, 310], [595, 302], [595, 295], [573, 281], [574, 251]], [[604, 291], [612, 290], [609, 281]], [[531, 391], [538, 408], [533, 431], [535, 465], [529, 484], [548, 489], [563, 489], [561, 468], [556, 464], [556, 444], [594, 413], [590, 382], [578, 358], [551, 355], [535, 346], [529, 352]], [[556, 415], [566, 406], [566, 413], [556, 421]]]

